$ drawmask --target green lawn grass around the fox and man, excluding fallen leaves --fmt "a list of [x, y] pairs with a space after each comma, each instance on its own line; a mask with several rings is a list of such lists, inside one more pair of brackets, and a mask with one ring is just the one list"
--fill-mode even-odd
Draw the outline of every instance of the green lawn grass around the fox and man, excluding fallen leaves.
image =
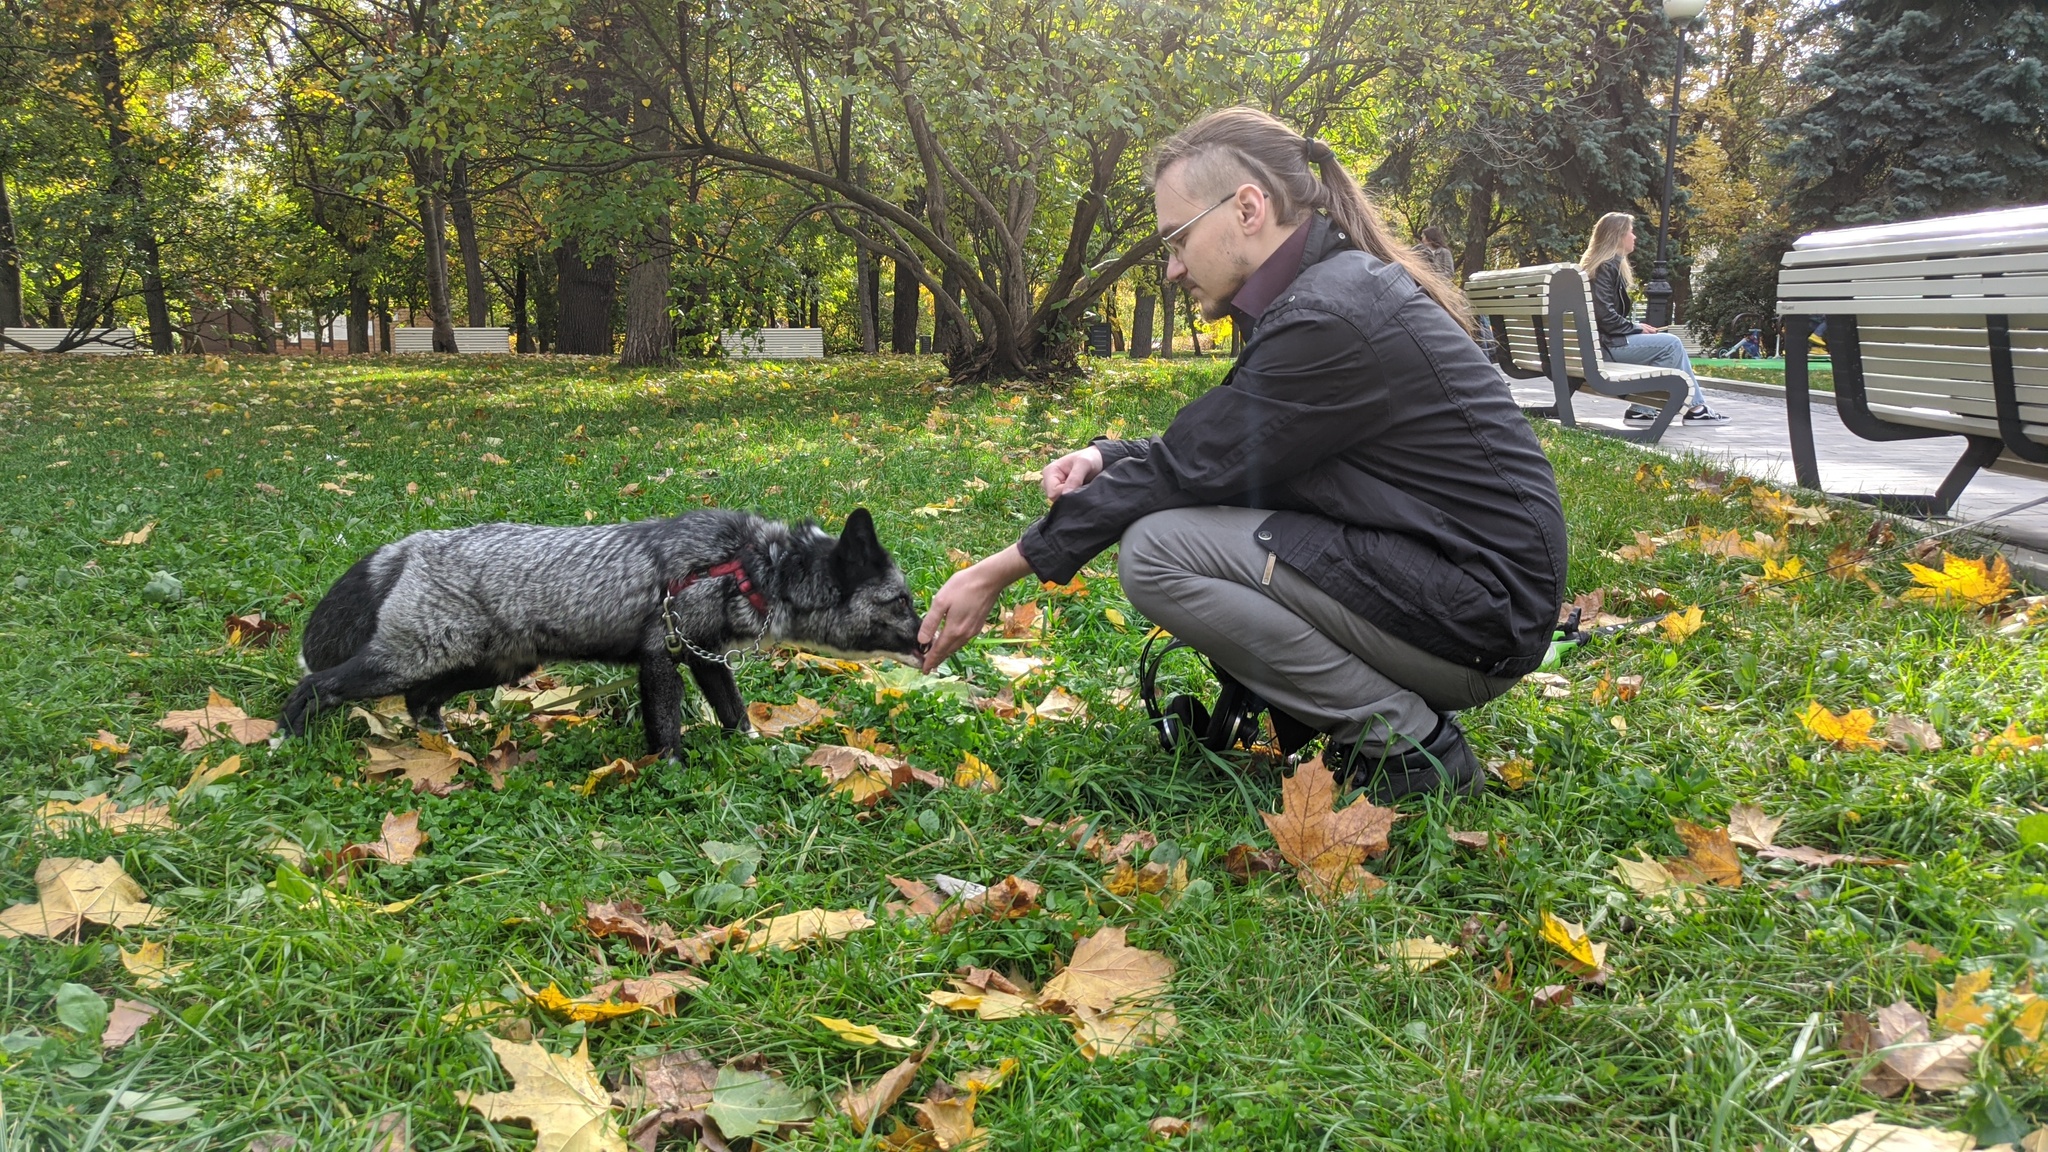
[[[1135, 1148], [1155, 1115], [1208, 1123], [1182, 1144], [1260, 1150], [1767, 1148], [1868, 1107], [1954, 1123], [1972, 1101], [1970, 1115], [1982, 1115], [1993, 1091], [2021, 1115], [2048, 1115], [2040, 1080], [1997, 1060], [1960, 1097], [1898, 1103], [1858, 1088], [1855, 1060], [1833, 1050], [1841, 1011], [1901, 996], [1933, 1011], [1935, 988], [1960, 970], [1989, 963], [2007, 986], [2048, 961], [2042, 849], [2015, 836], [2015, 818], [2048, 804], [2048, 754], [1970, 754], [1978, 732], [2048, 724], [2044, 631], [1995, 635], [1970, 613], [1878, 601], [1855, 582], [1747, 603], [1737, 586], [1755, 564], [1675, 545], [1638, 564], [1606, 560], [1638, 529], [1690, 519], [1782, 529], [1745, 500], [1686, 486], [1698, 469], [1667, 465], [1669, 488], [1634, 484], [1651, 457], [1548, 426], [1573, 531], [1571, 588], [1608, 588], [1610, 609], [1624, 613], [1651, 611], [1649, 590], [1663, 588], [1706, 605], [1706, 627], [1677, 648], [1618, 635], [1565, 666], [1571, 699], [1524, 685], [1466, 713], [1481, 752], [1530, 758], [1534, 781], [1479, 801], [1407, 806], [1393, 853], [1372, 865], [1389, 881], [1372, 900], [1323, 906], [1286, 877], [1239, 886], [1223, 873], [1231, 845], [1270, 845], [1257, 812], [1276, 804], [1278, 773], [1161, 752], [1143, 715], [1118, 707], [1143, 621], [1108, 556], [1090, 566], [1085, 596], [1047, 601], [1059, 607], [1044, 648], [1053, 674], [1026, 687], [1034, 699], [1057, 678], [1087, 701], [1087, 724], [1026, 728], [934, 693], [877, 701], [852, 678], [805, 666], [741, 670], [750, 699], [811, 695], [846, 724], [879, 728], [920, 767], [946, 773], [973, 752], [1001, 773], [995, 795], [911, 787], [862, 814], [799, 767], [805, 748], [696, 726], [684, 763], [580, 797], [569, 785], [592, 767], [639, 750], [623, 693], [602, 724], [549, 742], [516, 726], [539, 758], [502, 793], [477, 773], [475, 787], [449, 797], [373, 785], [358, 769], [360, 724], [330, 715], [309, 740], [248, 748], [240, 775], [178, 808], [176, 832], [31, 826], [49, 797], [174, 795], [199, 756], [156, 730], [158, 717], [197, 707], [209, 687], [268, 715], [295, 678], [295, 644], [223, 648], [221, 619], [264, 611], [299, 625], [352, 560], [403, 533], [705, 502], [836, 527], [864, 504], [913, 590], [930, 596], [952, 570], [948, 549], [985, 553], [1040, 512], [1036, 486], [1018, 474], [1110, 426], [1155, 430], [1219, 373], [1217, 363], [1116, 363], [1057, 394], [991, 394], [942, 392], [936, 363], [922, 359], [666, 373], [549, 359], [238, 359], [225, 375], [186, 359], [0, 361], [0, 904], [33, 896], [43, 857], [113, 855], [168, 910], [158, 929], [82, 943], [0, 941], [0, 1146], [240, 1150], [283, 1132], [295, 1148], [360, 1150], [371, 1117], [403, 1109], [422, 1150], [526, 1148], [524, 1127], [494, 1134], [457, 1103], [457, 1091], [508, 1080], [481, 1033], [442, 1013], [502, 996], [512, 972], [571, 992], [606, 972], [645, 972], [637, 953], [578, 929], [582, 902], [610, 896], [635, 896], [678, 929], [776, 906], [868, 908], [883, 922], [788, 955], [725, 955], [674, 1019], [588, 1027], [600, 1070], [676, 1047], [719, 1062], [760, 1052], [795, 1086], [838, 1093], [895, 1056], [834, 1041], [811, 1013], [922, 1027], [920, 1037], [938, 1037], [934, 1072], [1022, 1062], [977, 1113], [1004, 1150]], [[483, 453], [510, 463], [483, 463]], [[618, 496], [631, 482], [641, 494]], [[918, 512], [948, 500], [958, 510]], [[156, 523], [145, 545], [104, 543], [145, 523]], [[1798, 529], [1792, 547], [1812, 566], [1866, 527], [1845, 508]], [[158, 572], [182, 584], [182, 599], [143, 596]], [[1896, 562], [1872, 572], [1892, 596], [1907, 584]], [[1018, 588], [1012, 601], [1026, 594], [1038, 592]], [[983, 691], [1001, 683], [991, 652], [1001, 648], [983, 640], [956, 660]], [[1645, 676], [1640, 697], [1591, 703], [1597, 678], [1622, 674]], [[1808, 699], [1931, 719], [1950, 748], [1827, 750], [1794, 719]], [[100, 728], [133, 740], [129, 763], [88, 750]], [[463, 738], [481, 748], [481, 732]], [[1671, 920], [1620, 888], [1618, 853], [1677, 855], [1671, 818], [1720, 824], [1731, 801], [1786, 816], [1780, 842], [1911, 865], [1749, 861], [1741, 890], [1706, 892], [1702, 908]], [[375, 838], [385, 814], [408, 810], [432, 834], [426, 853], [360, 873], [350, 892], [418, 896], [410, 910], [303, 908], [268, 888], [272, 836], [328, 849]], [[1147, 828], [1210, 892], [1171, 906], [1116, 898], [1100, 865], [1028, 832], [1024, 816]], [[1495, 830], [1505, 847], [1475, 855], [1448, 828]], [[741, 902], [698, 906], [717, 881], [702, 840], [762, 849]], [[948, 935], [881, 916], [887, 873], [942, 871], [1024, 873], [1044, 886], [1047, 912]], [[459, 883], [467, 877], [481, 879]], [[1544, 910], [1608, 941], [1616, 976], [1538, 1013], [1528, 992], [1565, 980], [1538, 939]], [[952, 968], [1044, 980], [1075, 935], [1100, 924], [1124, 924], [1135, 945], [1180, 965], [1182, 1031], [1163, 1047], [1087, 1064], [1053, 1019], [924, 1017], [924, 992]], [[1460, 933], [1470, 935], [1464, 957], [1425, 974], [1386, 965], [1395, 941]], [[139, 992], [117, 943], [143, 939], [166, 941], [193, 968]], [[1921, 959], [1909, 941], [1948, 959]], [[1491, 980], [1503, 951], [1516, 963], [1507, 994]], [[100, 1058], [57, 1021], [66, 982], [150, 1000], [164, 1017]], [[530, 1023], [557, 1050], [586, 1033], [539, 1013]], [[123, 1091], [174, 1095], [199, 1113], [139, 1121], [117, 1107]], [[860, 1146], [836, 1121], [784, 1144]]]

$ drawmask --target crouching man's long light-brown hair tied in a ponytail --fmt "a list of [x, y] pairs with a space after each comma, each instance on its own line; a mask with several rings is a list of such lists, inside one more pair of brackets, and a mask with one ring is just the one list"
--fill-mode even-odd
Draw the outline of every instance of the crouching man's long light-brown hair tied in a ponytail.
[[[1436, 275], [1411, 248], [1395, 244], [1364, 189], [1321, 139], [1309, 139], [1260, 109], [1217, 109], [1155, 148], [1145, 160], [1145, 178], [1157, 184], [1159, 174], [1176, 164], [1188, 166], [1182, 180], [1202, 199], [1223, 197], [1239, 184], [1257, 184], [1280, 223], [1294, 223], [1317, 209], [1329, 213], [1329, 221], [1350, 236], [1354, 248], [1407, 269], [1430, 299], [1444, 305], [1466, 332], [1473, 330], [1473, 314], [1458, 287]], [[1323, 176], [1317, 178], [1309, 164]]]

